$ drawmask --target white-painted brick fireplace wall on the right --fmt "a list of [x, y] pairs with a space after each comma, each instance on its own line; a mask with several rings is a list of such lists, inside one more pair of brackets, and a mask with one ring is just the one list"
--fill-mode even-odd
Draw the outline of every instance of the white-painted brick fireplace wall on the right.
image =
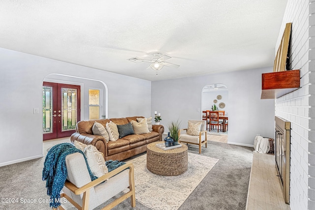
[[276, 100], [276, 115], [291, 121], [290, 207], [315, 209], [315, 1], [288, 0], [276, 50], [292, 23], [290, 69], [300, 69], [300, 89]]

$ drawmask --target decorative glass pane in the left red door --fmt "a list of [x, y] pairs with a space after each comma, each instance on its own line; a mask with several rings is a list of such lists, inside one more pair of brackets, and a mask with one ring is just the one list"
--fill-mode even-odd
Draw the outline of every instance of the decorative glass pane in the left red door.
[[52, 87], [43, 87], [43, 133], [52, 133]]

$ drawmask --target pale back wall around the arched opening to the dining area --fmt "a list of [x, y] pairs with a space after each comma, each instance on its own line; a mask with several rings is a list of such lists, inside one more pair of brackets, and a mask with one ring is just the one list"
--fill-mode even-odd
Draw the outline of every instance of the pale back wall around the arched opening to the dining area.
[[186, 128], [188, 120], [201, 119], [197, 109], [201, 109], [203, 87], [222, 83], [228, 88], [228, 143], [252, 147], [256, 134], [274, 137], [274, 100], [260, 99], [261, 74], [272, 71], [252, 69], [152, 82], [152, 115], [157, 110], [161, 124], [180, 119], [181, 128]]

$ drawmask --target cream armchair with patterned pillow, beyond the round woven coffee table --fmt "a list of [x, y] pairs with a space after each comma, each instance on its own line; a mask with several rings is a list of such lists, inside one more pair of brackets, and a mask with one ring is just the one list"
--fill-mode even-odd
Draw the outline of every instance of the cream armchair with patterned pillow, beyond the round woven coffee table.
[[[186, 130], [186, 133], [184, 133], [185, 130]], [[205, 120], [188, 120], [188, 128], [181, 129], [179, 131], [179, 142], [198, 145], [199, 153], [201, 153], [201, 146], [203, 144], [205, 144], [207, 148], [206, 121]]]

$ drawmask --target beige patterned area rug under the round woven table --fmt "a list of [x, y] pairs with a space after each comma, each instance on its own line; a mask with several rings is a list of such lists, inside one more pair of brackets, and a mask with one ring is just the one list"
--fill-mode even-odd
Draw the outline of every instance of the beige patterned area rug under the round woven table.
[[188, 152], [188, 170], [164, 177], [147, 169], [147, 155], [129, 160], [134, 165], [136, 200], [153, 210], [177, 210], [219, 159]]

